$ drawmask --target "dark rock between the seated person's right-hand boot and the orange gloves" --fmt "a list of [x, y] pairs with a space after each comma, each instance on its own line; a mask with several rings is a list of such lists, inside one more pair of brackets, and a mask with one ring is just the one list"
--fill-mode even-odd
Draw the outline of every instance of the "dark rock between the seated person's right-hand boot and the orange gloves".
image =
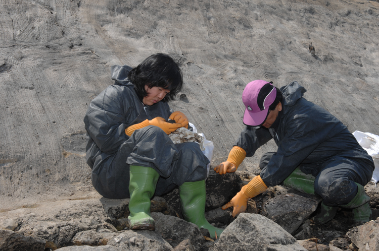
[[207, 211], [219, 208], [231, 200], [240, 192], [242, 180], [234, 172], [220, 175], [213, 169], [209, 170], [209, 176], [206, 182], [207, 190]]

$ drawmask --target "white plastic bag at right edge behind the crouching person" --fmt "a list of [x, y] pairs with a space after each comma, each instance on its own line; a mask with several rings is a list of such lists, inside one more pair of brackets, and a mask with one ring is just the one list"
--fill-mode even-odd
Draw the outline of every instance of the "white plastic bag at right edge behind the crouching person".
[[374, 161], [375, 169], [371, 181], [376, 183], [379, 179], [379, 136], [359, 131], [355, 131], [353, 135]]

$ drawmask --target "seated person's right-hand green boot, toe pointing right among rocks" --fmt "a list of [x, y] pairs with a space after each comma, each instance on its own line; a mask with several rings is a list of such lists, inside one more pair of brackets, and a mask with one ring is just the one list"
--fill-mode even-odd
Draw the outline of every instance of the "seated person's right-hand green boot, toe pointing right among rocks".
[[179, 186], [181, 211], [184, 220], [194, 223], [199, 228], [208, 229], [211, 238], [220, 236], [224, 229], [212, 226], [204, 216], [205, 213], [205, 180], [184, 182]]

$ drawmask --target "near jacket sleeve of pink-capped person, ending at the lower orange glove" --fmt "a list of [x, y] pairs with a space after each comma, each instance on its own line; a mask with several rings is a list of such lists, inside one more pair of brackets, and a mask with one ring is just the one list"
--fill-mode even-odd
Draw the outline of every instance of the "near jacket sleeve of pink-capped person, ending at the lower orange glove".
[[293, 115], [282, 121], [286, 130], [281, 134], [278, 150], [260, 174], [267, 186], [285, 180], [321, 142], [334, 135], [338, 126], [336, 118], [327, 112], [321, 113], [323, 111], [315, 107], [297, 106]]

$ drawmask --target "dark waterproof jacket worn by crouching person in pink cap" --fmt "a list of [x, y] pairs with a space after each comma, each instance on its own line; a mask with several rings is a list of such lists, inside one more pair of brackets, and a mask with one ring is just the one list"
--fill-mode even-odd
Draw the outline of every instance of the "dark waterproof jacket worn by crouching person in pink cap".
[[283, 109], [276, 130], [247, 126], [234, 144], [251, 157], [260, 146], [275, 140], [277, 152], [260, 174], [267, 186], [281, 183], [298, 166], [304, 173], [316, 176], [321, 163], [334, 156], [373, 166], [372, 158], [339, 119], [303, 98], [304, 87], [292, 82], [280, 91]]

